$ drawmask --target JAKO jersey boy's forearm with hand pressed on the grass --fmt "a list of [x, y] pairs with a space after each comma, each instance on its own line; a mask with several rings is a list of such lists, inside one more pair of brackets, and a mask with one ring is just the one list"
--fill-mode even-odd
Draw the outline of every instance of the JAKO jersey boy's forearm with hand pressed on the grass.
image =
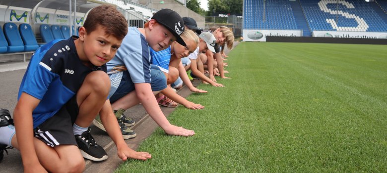
[[106, 100], [99, 114], [102, 124], [117, 146], [118, 157], [120, 157], [123, 161], [126, 161], [128, 158], [146, 160], [152, 157], [147, 152], [137, 152], [132, 150], [125, 143], [124, 139], [122, 138], [122, 133], [120, 131], [120, 126], [118, 125], [116, 116], [112, 112], [112, 106], [110, 105], [109, 99]]

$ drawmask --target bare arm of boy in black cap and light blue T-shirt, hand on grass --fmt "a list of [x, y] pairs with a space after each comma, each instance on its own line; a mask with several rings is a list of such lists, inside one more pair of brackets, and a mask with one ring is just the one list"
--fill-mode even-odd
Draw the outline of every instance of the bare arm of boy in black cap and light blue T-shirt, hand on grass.
[[187, 130], [169, 123], [153, 95], [150, 84], [138, 83], [134, 84], [134, 87], [137, 98], [142, 103], [142, 106], [144, 106], [146, 112], [167, 134], [179, 136], [192, 136], [195, 134], [194, 130]]

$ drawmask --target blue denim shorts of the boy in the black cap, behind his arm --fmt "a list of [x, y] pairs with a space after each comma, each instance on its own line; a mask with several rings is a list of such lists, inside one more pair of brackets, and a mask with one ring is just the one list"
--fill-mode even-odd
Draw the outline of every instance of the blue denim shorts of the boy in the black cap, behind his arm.
[[[152, 87], [152, 91], [160, 91], [167, 87], [167, 78], [161, 70], [150, 68], [150, 87]], [[120, 86], [117, 88], [116, 92], [110, 97], [110, 102], [114, 103], [118, 99], [124, 97], [131, 91], [133, 91], [134, 84], [131, 81], [130, 75], [128, 71], [124, 71], [122, 75]]]

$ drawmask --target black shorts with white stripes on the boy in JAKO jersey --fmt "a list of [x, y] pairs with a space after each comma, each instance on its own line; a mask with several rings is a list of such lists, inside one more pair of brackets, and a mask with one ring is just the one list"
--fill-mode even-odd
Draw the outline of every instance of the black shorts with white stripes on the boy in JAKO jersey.
[[34, 135], [47, 145], [77, 145], [72, 130], [72, 125], [78, 115], [79, 107], [74, 95], [51, 118], [34, 129]]

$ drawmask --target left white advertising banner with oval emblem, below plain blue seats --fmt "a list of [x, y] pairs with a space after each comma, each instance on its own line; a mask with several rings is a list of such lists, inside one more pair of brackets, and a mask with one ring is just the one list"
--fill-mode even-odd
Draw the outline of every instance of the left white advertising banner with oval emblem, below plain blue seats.
[[243, 30], [243, 41], [266, 42], [266, 36], [300, 37], [301, 30]]

